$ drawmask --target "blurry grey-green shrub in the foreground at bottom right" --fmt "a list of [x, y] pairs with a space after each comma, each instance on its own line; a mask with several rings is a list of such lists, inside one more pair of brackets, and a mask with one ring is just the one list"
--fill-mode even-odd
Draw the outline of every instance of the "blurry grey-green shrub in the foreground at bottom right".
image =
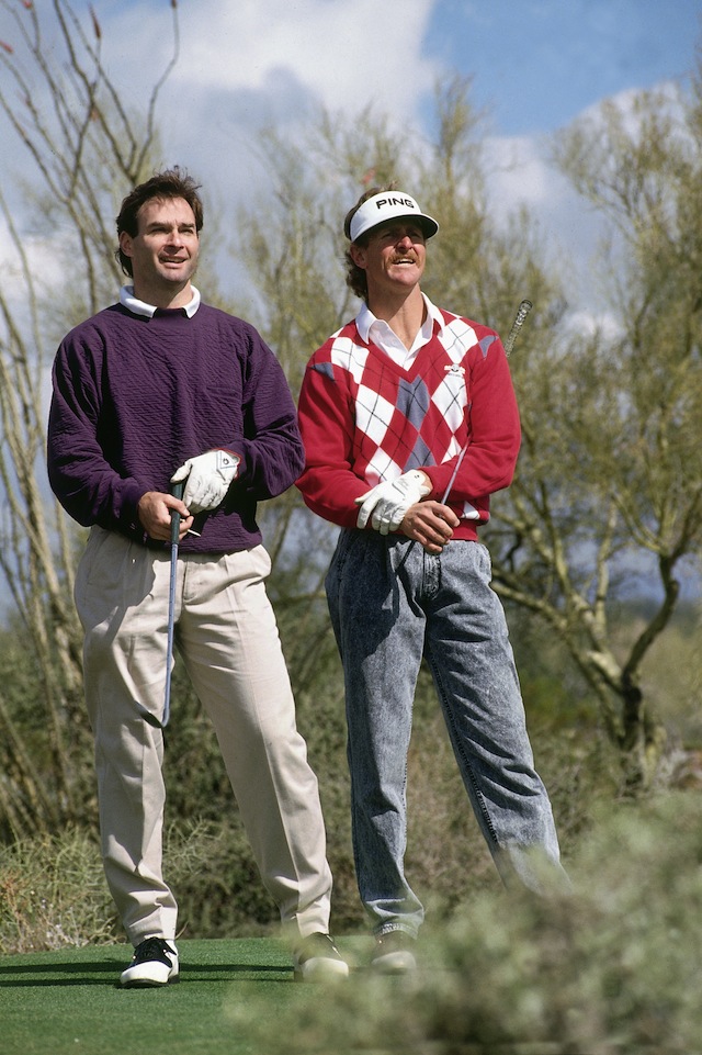
[[416, 977], [356, 970], [274, 1032], [256, 1002], [228, 1013], [268, 1055], [690, 1055], [701, 865], [695, 795], [610, 807], [575, 856], [571, 895], [485, 891], [420, 945]]

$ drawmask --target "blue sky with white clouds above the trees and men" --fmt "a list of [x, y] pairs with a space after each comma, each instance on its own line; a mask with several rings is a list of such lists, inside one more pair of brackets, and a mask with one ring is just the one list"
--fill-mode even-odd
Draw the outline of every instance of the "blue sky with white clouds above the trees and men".
[[[170, 56], [170, 0], [72, 4], [87, 25], [92, 7], [123, 101], [143, 109]], [[23, 10], [0, 7], [0, 40], [16, 44], [8, 7]], [[37, 5], [47, 54], [52, 8]], [[604, 98], [627, 105], [622, 93], [683, 81], [701, 15], [701, 0], [179, 0], [181, 56], [158, 109], [162, 161], [185, 166], [229, 211], [264, 177], [264, 124], [295, 136], [319, 104], [350, 122], [373, 104], [400, 134], [430, 131], [433, 89], [458, 72], [486, 111], [497, 209], [508, 217], [525, 204], [556, 251], [587, 266], [591, 217], [551, 167], [547, 135]]]

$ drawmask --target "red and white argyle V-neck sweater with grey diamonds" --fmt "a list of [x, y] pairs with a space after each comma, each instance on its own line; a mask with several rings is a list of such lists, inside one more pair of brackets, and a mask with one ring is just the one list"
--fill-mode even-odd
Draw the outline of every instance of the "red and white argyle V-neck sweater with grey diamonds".
[[461, 450], [467, 450], [448, 504], [461, 518], [454, 538], [477, 538], [489, 495], [509, 486], [520, 446], [519, 411], [505, 349], [492, 329], [439, 311], [431, 340], [405, 370], [356, 322], [312, 357], [299, 395], [307, 506], [355, 527], [354, 500], [410, 469], [443, 497]]

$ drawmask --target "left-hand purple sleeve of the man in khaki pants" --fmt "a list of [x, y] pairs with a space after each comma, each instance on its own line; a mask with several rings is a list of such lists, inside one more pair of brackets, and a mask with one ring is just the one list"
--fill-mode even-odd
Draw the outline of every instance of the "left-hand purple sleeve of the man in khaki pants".
[[54, 360], [47, 430], [47, 470], [54, 494], [79, 524], [99, 524], [134, 535], [137, 503], [145, 491], [123, 479], [103, 451], [98, 429], [102, 409], [101, 355], [69, 335]]

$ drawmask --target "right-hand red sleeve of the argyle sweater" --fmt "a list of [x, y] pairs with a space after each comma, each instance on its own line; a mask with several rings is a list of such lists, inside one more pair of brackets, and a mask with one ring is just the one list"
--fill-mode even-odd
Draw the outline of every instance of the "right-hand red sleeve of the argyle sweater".
[[[508, 487], [514, 475], [521, 442], [519, 408], [505, 349], [499, 337], [491, 336], [489, 345], [483, 337], [467, 357], [467, 447], [451, 489], [453, 502], [494, 494]], [[430, 498], [443, 497], [456, 458], [424, 470], [433, 485]]]

